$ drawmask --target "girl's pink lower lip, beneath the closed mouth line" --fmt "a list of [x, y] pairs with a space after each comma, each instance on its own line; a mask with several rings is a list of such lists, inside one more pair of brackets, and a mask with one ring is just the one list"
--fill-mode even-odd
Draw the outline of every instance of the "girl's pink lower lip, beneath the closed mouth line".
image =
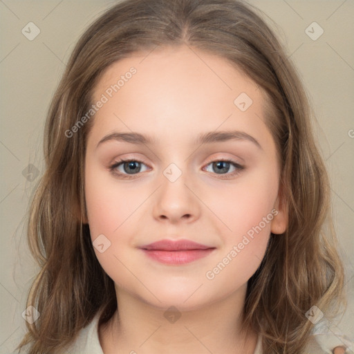
[[181, 250], [181, 251], [162, 251], [162, 250], [143, 250], [148, 257], [165, 264], [185, 264], [207, 257], [215, 248], [207, 250]]

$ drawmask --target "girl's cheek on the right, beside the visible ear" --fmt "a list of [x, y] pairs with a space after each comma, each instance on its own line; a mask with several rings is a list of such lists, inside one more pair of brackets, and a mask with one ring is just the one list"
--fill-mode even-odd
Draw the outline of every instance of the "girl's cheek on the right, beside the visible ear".
[[[218, 229], [223, 246], [213, 268], [205, 274], [207, 279], [218, 279], [221, 284], [234, 279], [242, 284], [259, 268], [270, 238], [271, 222], [277, 214], [274, 203], [278, 183], [278, 176], [271, 169], [257, 169], [228, 186], [217, 200], [209, 201], [223, 221]], [[209, 195], [216, 198], [216, 194]], [[225, 196], [223, 203], [220, 195]]]

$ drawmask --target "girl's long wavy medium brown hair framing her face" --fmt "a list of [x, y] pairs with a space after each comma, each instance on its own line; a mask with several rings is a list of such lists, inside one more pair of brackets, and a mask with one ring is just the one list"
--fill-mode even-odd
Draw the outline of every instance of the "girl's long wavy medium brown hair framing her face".
[[270, 235], [248, 281], [244, 328], [263, 335], [263, 353], [299, 354], [313, 328], [306, 311], [316, 305], [328, 317], [341, 301], [343, 265], [330, 222], [328, 177], [310, 124], [313, 113], [293, 64], [257, 12], [236, 0], [126, 0], [82, 35], [46, 120], [46, 171], [28, 222], [30, 251], [41, 270], [27, 305], [41, 315], [26, 323], [28, 333], [17, 348], [28, 344], [28, 354], [53, 353], [70, 344], [98, 311], [104, 324], [117, 310], [113, 280], [97, 261], [84, 223], [84, 156], [94, 117], [71, 138], [65, 132], [93, 104], [95, 85], [111, 64], [157, 46], [185, 44], [223, 57], [269, 100], [266, 123], [281, 162], [288, 227]]

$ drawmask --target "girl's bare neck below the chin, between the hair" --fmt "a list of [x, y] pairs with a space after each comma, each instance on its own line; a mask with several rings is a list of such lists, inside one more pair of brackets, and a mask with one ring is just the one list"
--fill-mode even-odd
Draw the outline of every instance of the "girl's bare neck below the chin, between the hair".
[[116, 289], [119, 311], [99, 328], [102, 350], [104, 354], [253, 354], [257, 334], [241, 328], [246, 287], [214, 304], [176, 312]]

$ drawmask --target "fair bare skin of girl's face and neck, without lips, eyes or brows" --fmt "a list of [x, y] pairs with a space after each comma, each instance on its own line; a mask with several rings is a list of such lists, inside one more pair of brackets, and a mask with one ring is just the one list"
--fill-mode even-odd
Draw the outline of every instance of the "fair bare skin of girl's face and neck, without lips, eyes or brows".
[[[270, 232], [286, 230], [263, 93], [225, 59], [180, 46], [114, 63], [95, 86], [93, 101], [131, 66], [137, 73], [95, 114], [85, 158], [87, 222], [93, 241], [104, 234], [111, 242], [95, 254], [115, 283], [119, 309], [99, 329], [102, 350], [252, 354], [257, 333], [241, 332], [247, 282], [259, 268]], [[246, 111], [234, 104], [240, 93], [252, 98]], [[241, 131], [257, 142], [241, 137], [196, 144], [200, 134], [214, 131]], [[138, 132], [155, 141], [99, 144], [113, 132]], [[140, 170], [130, 167], [129, 174], [122, 163], [113, 174], [109, 167], [120, 158], [142, 161]], [[230, 164], [218, 174], [212, 162], [220, 159], [244, 168]], [[174, 182], [164, 174], [171, 163], [182, 172]], [[208, 279], [205, 274], [272, 209], [277, 215]], [[188, 239], [214, 250], [191, 263], [162, 264], [139, 248], [161, 239]], [[173, 323], [164, 316], [170, 306], [181, 315]]]

